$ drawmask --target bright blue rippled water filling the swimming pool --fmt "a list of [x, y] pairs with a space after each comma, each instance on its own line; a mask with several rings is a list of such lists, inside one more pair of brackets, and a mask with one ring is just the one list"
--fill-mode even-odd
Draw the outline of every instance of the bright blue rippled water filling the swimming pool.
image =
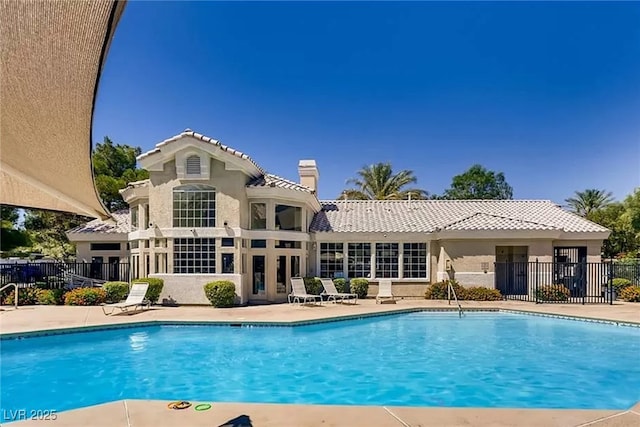
[[2, 341], [9, 410], [117, 399], [627, 409], [640, 328], [508, 313], [153, 326]]

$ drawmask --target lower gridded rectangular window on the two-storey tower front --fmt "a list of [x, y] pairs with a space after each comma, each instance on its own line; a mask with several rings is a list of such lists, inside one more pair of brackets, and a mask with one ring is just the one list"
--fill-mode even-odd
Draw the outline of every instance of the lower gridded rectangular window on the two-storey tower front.
[[182, 274], [215, 273], [216, 239], [174, 239], [173, 272]]

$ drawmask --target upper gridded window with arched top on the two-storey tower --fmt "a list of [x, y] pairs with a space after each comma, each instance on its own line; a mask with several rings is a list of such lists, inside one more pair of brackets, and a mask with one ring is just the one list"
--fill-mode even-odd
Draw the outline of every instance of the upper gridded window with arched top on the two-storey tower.
[[216, 191], [207, 185], [173, 189], [174, 227], [215, 227]]

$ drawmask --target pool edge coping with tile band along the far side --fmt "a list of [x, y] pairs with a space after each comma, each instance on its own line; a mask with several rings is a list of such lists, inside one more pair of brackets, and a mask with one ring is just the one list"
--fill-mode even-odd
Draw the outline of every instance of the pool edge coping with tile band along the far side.
[[[22, 332], [7, 332], [0, 333], [0, 341], [8, 341], [15, 339], [35, 338], [51, 335], [66, 335], [72, 333], [86, 333], [86, 332], [98, 332], [107, 331], [113, 329], [131, 329], [145, 326], [220, 326], [220, 327], [297, 327], [308, 326], [322, 323], [342, 322], [348, 320], [359, 320], [370, 317], [383, 317], [397, 314], [418, 313], [418, 312], [456, 312], [458, 308], [455, 307], [412, 307], [412, 308], [397, 308], [390, 309], [385, 312], [373, 312], [373, 313], [358, 313], [358, 314], [346, 314], [331, 317], [324, 317], [319, 319], [306, 319], [306, 320], [142, 320], [134, 322], [123, 322], [116, 324], [105, 325], [84, 325], [84, 326], [71, 326], [61, 328], [50, 329], [37, 329], [31, 331]], [[613, 319], [603, 319], [596, 317], [578, 316], [578, 315], [566, 315], [545, 313], [535, 310], [527, 309], [508, 309], [499, 307], [471, 307], [465, 308], [463, 312], [488, 312], [488, 313], [511, 313], [522, 314], [539, 317], [550, 317], [563, 320], [583, 321], [590, 323], [602, 323], [613, 326], [623, 327], [635, 327], [640, 328], [640, 322], [619, 321]]]

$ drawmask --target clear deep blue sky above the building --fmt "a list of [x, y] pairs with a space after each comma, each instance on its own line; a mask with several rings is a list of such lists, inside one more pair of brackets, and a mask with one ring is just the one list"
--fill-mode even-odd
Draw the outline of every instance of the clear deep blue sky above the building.
[[515, 198], [640, 186], [640, 3], [130, 1], [94, 143], [191, 128], [331, 199], [391, 162], [441, 193], [474, 163]]

